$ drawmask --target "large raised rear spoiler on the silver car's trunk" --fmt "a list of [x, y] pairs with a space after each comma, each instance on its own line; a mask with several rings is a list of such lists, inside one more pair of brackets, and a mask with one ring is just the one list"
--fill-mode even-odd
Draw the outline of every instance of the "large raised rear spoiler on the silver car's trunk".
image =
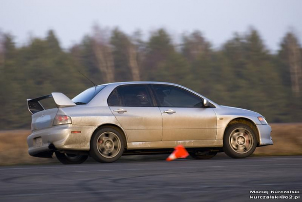
[[67, 106], [76, 106], [76, 104], [70, 100], [66, 95], [63, 93], [52, 93], [50, 95], [34, 98], [34, 99], [27, 99], [27, 107], [31, 114], [35, 114], [39, 111], [45, 110], [44, 107], [41, 105], [39, 101], [53, 98], [56, 102], [57, 108], [67, 107]]

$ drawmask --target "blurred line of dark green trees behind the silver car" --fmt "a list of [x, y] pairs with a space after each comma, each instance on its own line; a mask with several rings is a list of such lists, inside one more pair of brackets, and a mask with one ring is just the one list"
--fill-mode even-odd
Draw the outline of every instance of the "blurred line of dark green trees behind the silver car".
[[270, 53], [255, 29], [234, 34], [214, 49], [201, 32], [175, 44], [164, 29], [148, 40], [137, 31], [93, 28], [69, 50], [50, 30], [18, 47], [0, 33], [0, 129], [29, 128], [26, 99], [51, 92], [73, 98], [92, 84], [166, 81], [184, 85], [221, 105], [257, 111], [269, 122], [302, 120], [302, 48], [292, 32]]

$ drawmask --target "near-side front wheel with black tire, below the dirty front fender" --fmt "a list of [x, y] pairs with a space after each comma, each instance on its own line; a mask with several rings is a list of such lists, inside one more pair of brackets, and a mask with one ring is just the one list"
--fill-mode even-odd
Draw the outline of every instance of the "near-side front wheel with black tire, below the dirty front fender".
[[227, 127], [224, 135], [223, 150], [227, 156], [241, 159], [250, 156], [256, 149], [255, 131], [245, 124], [233, 124]]

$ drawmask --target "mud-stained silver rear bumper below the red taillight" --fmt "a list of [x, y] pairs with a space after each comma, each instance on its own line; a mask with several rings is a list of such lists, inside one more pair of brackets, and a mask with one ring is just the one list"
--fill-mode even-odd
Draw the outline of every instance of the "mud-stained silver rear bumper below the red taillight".
[[[66, 124], [34, 131], [27, 137], [28, 153], [34, 157], [51, 158], [54, 150], [89, 151], [95, 129], [96, 126]], [[35, 138], [42, 139], [42, 144], [38, 147], [34, 145]]]

